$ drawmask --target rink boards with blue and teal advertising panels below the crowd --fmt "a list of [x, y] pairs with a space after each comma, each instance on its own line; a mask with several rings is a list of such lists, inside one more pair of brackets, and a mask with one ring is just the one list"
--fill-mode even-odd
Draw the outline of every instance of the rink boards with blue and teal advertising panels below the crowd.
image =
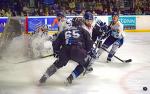
[[[68, 19], [71, 19], [75, 16], [67, 16]], [[81, 17], [81, 16], [79, 16]], [[22, 17], [21, 22], [23, 23], [22, 29], [25, 32], [34, 32], [41, 25], [48, 25], [49, 33], [57, 32], [58, 25], [54, 27], [51, 26], [56, 16], [29, 16]], [[108, 25], [111, 21], [111, 16], [95, 16], [94, 22], [96, 20], [102, 20]], [[8, 17], [0, 17], [0, 33], [3, 32], [5, 24], [7, 23]], [[127, 15], [120, 16], [120, 21], [124, 24], [124, 29], [126, 32], [150, 32], [150, 16], [148, 15]]]

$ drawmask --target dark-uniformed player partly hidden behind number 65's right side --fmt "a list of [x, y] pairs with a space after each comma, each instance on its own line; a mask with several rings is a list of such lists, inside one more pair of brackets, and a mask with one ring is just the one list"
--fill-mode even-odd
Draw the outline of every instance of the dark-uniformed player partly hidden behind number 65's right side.
[[[109, 31], [108, 31], [108, 26], [106, 25], [106, 23], [102, 22], [101, 20], [97, 20], [93, 30], [92, 30], [92, 40], [94, 42], [94, 49], [98, 49], [101, 44], [102, 44], [102, 40], [104, 40], [105, 38], [107, 38]], [[96, 45], [95, 45], [96, 44]], [[96, 57], [98, 57], [98, 53], [95, 52], [95, 55], [97, 55]], [[96, 58], [92, 58], [89, 65], [87, 66], [86, 70], [84, 71], [83, 75], [92, 72], [93, 68], [92, 68], [92, 64], [95, 62]]]

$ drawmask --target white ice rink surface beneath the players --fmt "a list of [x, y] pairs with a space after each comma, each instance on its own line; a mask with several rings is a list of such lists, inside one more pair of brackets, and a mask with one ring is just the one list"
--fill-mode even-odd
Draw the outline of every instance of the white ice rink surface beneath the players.
[[[94, 71], [80, 76], [71, 86], [64, 81], [77, 65], [70, 61], [49, 78], [45, 85], [38, 80], [55, 58], [47, 57], [16, 64], [5, 58], [0, 61], [0, 94], [150, 94], [150, 33], [127, 33], [126, 41], [116, 53], [121, 59], [132, 59], [125, 64], [114, 58], [106, 63], [104, 53], [94, 64]], [[16, 63], [15, 63], [16, 61]], [[148, 88], [143, 91], [143, 86]]]

